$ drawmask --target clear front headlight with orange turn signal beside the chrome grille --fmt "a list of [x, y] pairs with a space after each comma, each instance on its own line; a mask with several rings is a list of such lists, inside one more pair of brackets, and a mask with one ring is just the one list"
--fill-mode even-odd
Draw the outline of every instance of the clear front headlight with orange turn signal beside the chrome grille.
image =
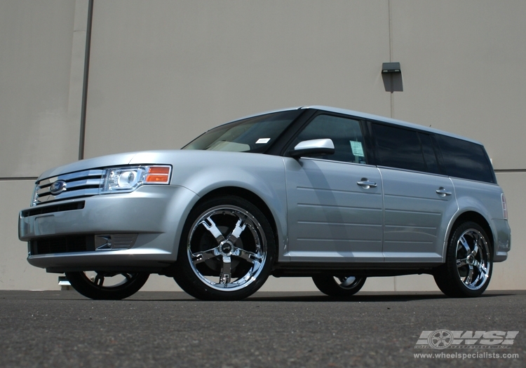
[[171, 167], [166, 165], [107, 168], [99, 193], [126, 193], [144, 184], [170, 184], [170, 171]]

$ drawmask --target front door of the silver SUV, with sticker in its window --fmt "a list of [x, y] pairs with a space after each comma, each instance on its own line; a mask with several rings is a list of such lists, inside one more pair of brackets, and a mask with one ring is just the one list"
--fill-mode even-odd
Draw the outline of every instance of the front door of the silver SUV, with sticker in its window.
[[367, 165], [360, 123], [318, 115], [295, 142], [330, 138], [335, 154], [285, 158], [290, 261], [384, 261], [382, 177]]

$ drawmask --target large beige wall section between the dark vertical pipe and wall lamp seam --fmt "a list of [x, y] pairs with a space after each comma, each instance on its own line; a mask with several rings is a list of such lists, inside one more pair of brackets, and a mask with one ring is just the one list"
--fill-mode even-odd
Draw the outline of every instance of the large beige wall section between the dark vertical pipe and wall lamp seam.
[[86, 157], [282, 107], [390, 111], [385, 1], [96, 1], [91, 45]]

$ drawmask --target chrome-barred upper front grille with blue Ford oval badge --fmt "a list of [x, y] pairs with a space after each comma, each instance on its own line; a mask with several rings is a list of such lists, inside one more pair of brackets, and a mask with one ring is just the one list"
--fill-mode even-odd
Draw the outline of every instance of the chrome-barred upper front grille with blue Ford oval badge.
[[[84, 170], [42, 179], [36, 182], [33, 205], [96, 196], [99, 193], [103, 174], [104, 170]], [[52, 188], [53, 184], [57, 186], [55, 190]]]

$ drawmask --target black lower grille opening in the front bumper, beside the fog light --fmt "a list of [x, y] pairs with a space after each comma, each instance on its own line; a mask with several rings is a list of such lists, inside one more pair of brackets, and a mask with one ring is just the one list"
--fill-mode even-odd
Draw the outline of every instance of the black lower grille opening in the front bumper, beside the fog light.
[[95, 240], [92, 236], [58, 236], [54, 238], [39, 238], [29, 242], [31, 255], [90, 252], [95, 250]]

